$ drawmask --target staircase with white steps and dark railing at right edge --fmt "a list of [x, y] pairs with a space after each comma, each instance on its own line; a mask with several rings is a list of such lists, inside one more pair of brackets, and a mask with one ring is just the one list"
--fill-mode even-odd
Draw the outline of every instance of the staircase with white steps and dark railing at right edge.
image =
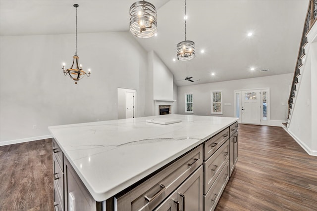
[[292, 114], [293, 114], [293, 109], [296, 102], [296, 96], [297, 96], [299, 85], [301, 83], [301, 73], [304, 70], [304, 64], [306, 59], [305, 50], [308, 44], [307, 34], [312, 29], [316, 20], [317, 20], [317, 0], [310, 0], [307, 14], [306, 14], [306, 21], [305, 21], [305, 25], [303, 29], [301, 44], [298, 51], [298, 57], [297, 57], [297, 62], [295, 66], [295, 72], [293, 76], [291, 91], [288, 98], [288, 117], [287, 117], [288, 122], [283, 123], [283, 126], [286, 128], [289, 127], [289, 124], [291, 123], [291, 120], [292, 120]]

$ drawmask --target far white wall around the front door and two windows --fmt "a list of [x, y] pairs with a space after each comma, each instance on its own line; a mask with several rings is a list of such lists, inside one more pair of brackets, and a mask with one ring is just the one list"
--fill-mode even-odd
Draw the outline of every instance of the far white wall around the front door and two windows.
[[[178, 87], [178, 114], [185, 114], [185, 93], [193, 92], [194, 115], [234, 116], [234, 90], [252, 88], [270, 88], [270, 119], [285, 121], [287, 117], [287, 100], [289, 84], [293, 74], [283, 74], [252, 79], [197, 84]], [[222, 90], [223, 115], [211, 115], [211, 90]], [[224, 105], [231, 103], [231, 105]], [[282, 105], [285, 103], [285, 105]], [[187, 114], [187, 113], [186, 113]]]

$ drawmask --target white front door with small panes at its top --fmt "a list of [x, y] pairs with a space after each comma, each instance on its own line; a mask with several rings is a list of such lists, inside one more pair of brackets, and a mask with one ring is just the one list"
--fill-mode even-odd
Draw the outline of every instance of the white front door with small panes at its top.
[[244, 90], [241, 98], [241, 123], [261, 124], [260, 89]]

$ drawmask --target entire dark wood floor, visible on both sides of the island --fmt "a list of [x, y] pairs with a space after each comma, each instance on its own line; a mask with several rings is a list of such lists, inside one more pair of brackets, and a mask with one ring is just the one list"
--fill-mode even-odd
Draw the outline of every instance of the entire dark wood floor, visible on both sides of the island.
[[[53, 211], [50, 139], [0, 147], [0, 211]], [[217, 211], [317, 211], [317, 157], [281, 127], [239, 125], [239, 161]]]

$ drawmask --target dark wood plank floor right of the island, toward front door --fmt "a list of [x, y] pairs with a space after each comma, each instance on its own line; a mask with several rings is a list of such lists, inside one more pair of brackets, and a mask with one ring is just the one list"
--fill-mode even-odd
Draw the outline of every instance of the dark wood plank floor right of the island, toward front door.
[[239, 125], [238, 149], [216, 211], [317, 211], [317, 157], [283, 128]]

